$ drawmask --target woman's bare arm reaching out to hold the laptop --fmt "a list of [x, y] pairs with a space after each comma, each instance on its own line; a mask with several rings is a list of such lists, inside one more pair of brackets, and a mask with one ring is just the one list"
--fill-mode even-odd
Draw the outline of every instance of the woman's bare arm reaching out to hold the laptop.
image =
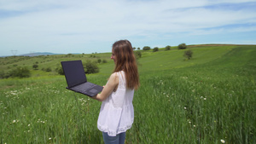
[[108, 98], [109, 95], [113, 92], [114, 89], [117, 89], [119, 85], [119, 77], [116, 73], [113, 73], [108, 79], [108, 83], [102, 89], [102, 93], [91, 97], [97, 101], [104, 101]]

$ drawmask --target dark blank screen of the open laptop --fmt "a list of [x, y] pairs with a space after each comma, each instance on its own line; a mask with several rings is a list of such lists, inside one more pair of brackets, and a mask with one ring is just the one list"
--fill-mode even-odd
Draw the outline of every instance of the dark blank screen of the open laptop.
[[68, 88], [87, 82], [81, 60], [61, 61]]

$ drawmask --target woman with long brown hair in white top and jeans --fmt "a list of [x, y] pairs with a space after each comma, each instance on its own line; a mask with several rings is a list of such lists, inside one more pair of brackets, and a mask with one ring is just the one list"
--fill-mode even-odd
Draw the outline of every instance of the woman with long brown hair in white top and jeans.
[[133, 95], [139, 87], [137, 63], [131, 43], [120, 40], [113, 43], [115, 67], [101, 94], [93, 98], [102, 101], [97, 127], [105, 143], [125, 143], [125, 131], [131, 128], [134, 118]]

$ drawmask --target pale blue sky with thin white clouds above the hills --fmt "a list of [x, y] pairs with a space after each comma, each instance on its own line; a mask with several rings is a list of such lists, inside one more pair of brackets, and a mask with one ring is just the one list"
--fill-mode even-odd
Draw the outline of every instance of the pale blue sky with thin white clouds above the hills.
[[0, 56], [256, 44], [256, 0], [0, 0]]

